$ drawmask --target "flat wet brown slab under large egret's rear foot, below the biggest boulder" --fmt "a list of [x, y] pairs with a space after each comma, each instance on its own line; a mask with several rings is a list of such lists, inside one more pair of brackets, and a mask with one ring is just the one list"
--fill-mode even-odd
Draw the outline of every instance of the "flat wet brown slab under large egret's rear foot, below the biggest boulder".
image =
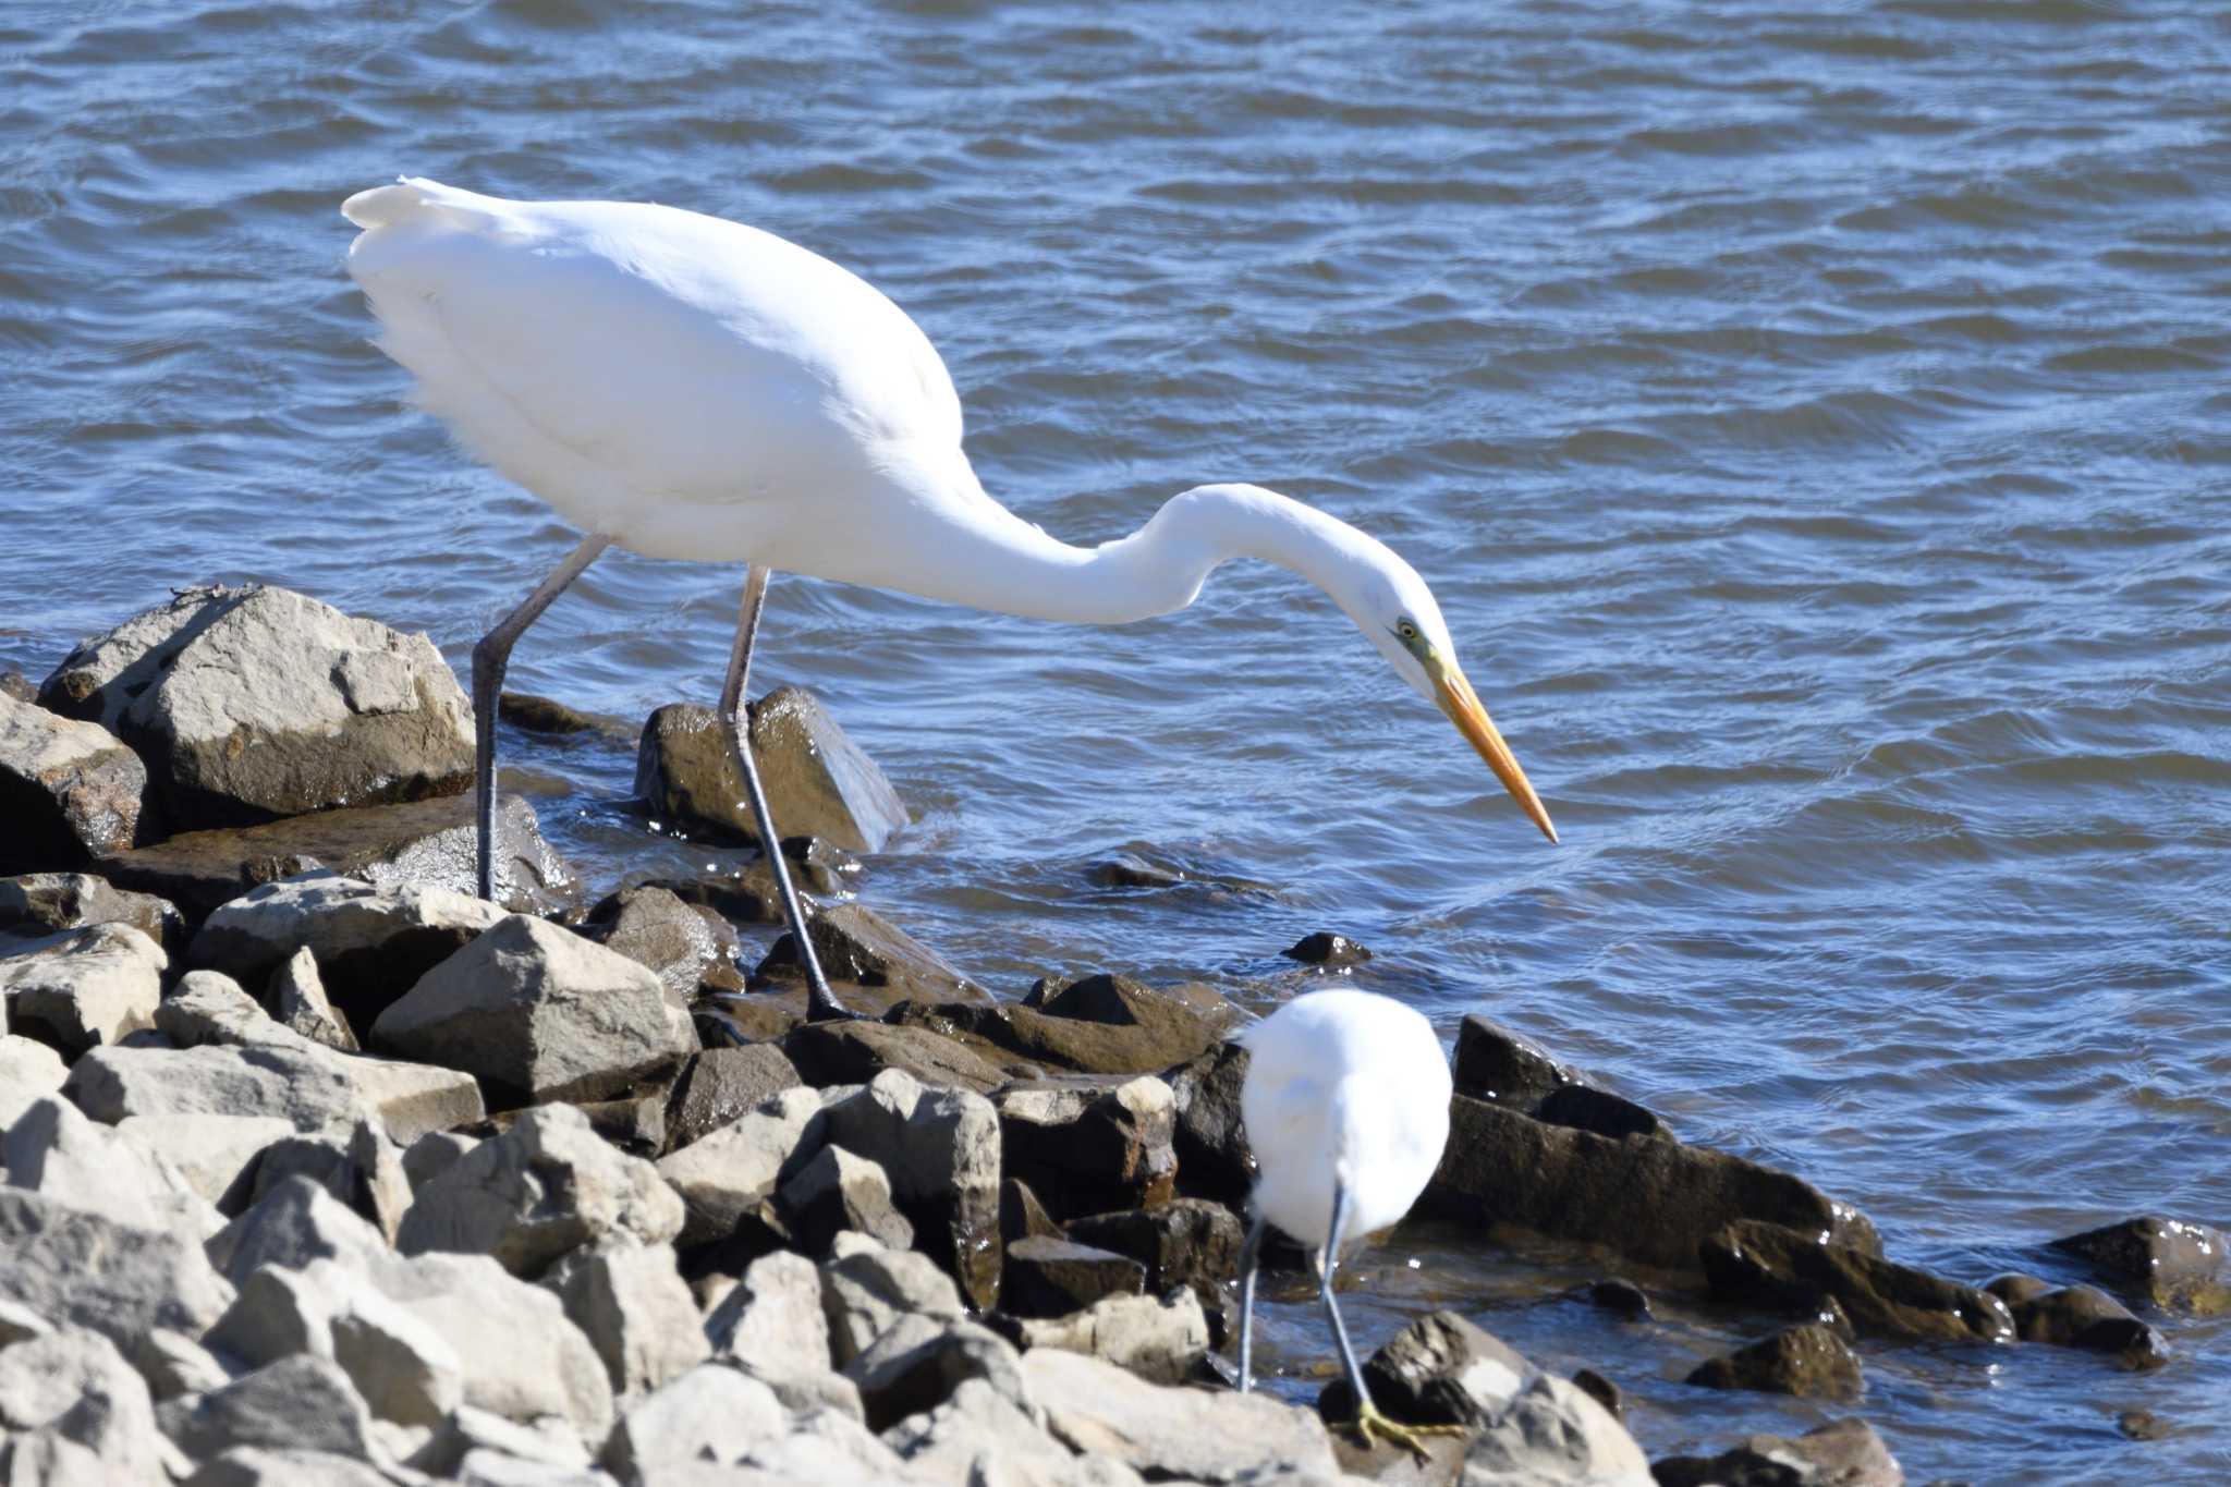
[[[408, 805], [357, 805], [286, 816], [259, 827], [183, 832], [107, 858], [123, 887], [163, 894], [201, 921], [241, 894], [323, 867], [373, 887], [437, 887], [471, 896], [477, 885], [473, 796]], [[495, 800], [495, 896], [504, 907], [547, 912], [573, 901], [576, 878], [542, 838], [522, 794]]]

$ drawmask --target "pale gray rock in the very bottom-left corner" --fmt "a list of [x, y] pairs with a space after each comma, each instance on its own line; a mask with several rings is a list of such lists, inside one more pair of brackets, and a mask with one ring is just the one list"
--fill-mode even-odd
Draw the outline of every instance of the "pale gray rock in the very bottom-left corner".
[[116, 1344], [65, 1326], [0, 1349], [0, 1427], [49, 1429], [120, 1483], [163, 1480], [163, 1438], [147, 1384]]

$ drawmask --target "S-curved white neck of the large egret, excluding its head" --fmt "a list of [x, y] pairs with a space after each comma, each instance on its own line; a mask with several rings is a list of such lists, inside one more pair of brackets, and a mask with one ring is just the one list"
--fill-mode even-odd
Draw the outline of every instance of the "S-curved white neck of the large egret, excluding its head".
[[1124, 624], [1185, 609], [1229, 557], [1274, 562], [1345, 609], [1341, 575], [1354, 568], [1359, 548], [1377, 546], [1354, 526], [1263, 486], [1196, 486], [1129, 537], [1093, 548], [1031, 526], [984, 495], [973, 473], [966, 490], [939, 495], [939, 531], [928, 544], [937, 564], [866, 582], [1035, 620]]

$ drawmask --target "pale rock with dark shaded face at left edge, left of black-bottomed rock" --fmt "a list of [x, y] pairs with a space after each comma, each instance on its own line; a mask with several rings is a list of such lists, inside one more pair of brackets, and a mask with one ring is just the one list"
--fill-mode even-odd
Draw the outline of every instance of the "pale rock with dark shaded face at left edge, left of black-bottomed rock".
[[170, 956], [132, 925], [87, 925], [36, 941], [0, 941], [0, 1030], [78, 1057], [154, 1026]]

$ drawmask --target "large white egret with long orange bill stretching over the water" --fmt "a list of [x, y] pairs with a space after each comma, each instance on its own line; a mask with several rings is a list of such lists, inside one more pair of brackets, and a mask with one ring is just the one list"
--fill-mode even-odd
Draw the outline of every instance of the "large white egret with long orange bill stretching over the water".
[[805, 956], [808, 1014], [843, 1017], [743, 727], [776, 568], [1042, 620], [1185, 609], [1227, 557], [1307, 577], [1455, 720], [1542, 832], [1548, 811], [1470, 682], [1426, 582], [1383, 544], [1261, 486], [1196, 486], [1098, 548], [977, 484], [962, 404], [906, 312], [779, 236], [676, 207], [504, 201], [404, 178], [341, 203], [379, 341], [457, 439], [589, 535], [473, 647], [480, 894], [493, 898], [495, 700], [511, 647], [598, 553], [747, 564], [721, 718]]

